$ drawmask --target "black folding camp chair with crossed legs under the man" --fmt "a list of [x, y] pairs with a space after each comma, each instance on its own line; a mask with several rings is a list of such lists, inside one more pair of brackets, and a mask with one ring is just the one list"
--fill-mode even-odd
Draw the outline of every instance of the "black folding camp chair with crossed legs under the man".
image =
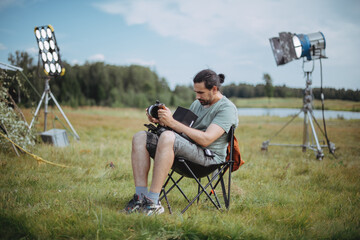
[[[175, 187], [180, 191], [180, 193], [188, 201], [188, 205], [181, 211], [181, 213], [184, 213], [196, 200], [197, 200], [197, 202], [199, 202], [200, 196], [202, 194], [206, 195], [206, 197], [207, 197], [206, 199], [210, 200], [211, 203], [216, 207], [216, 209], [218, 209], [218, 210], [222, 209], [222, 205], [221, 205], [219, 198], [215, 191], [215, 189], [219, 183], [222, 188], [222, 195], [223, 195], [225, 207], [226, 207], [226, 209], [229, 208], [229, 206], [230, 206], [231, 172], [232, 172], [232, 167], [234, 164], [234, 161], [233, 161], [234, 132], [235, 132], [235, 127], [232, 126], [229, 131], [229, 141], [228, 142], [230, 145], [230, 151], [228, 152], [228, 155], [230, 158], [228, 161], [225, 161], [220, 164], [204, 167], [204, 166], [190, 162], [183, 158], [175, 158], [174, 164], [171, 168], [172, 170], [168, 174], [168, 178], [162, 187], [161, 195], [160, 195], [160, 200], [165, 198], [170, 213], [172, 213], [172, 211], [171, 211], [171, 206], [170, 206], [170, 203], [168, 200], [168, 194]], [[180, 176], [178, 176], [179, 178], [177, 180], [174, 179], [175, 172], [180, 175]], [[228, 182], [227, 182], [227, 189], [226, 189], [226, 184], [225, 184], [225, 180], [224, 180], [225, 173], [229, 174], [229, 178], [228, 178]], [[188, 196], [185, 194], [185, 192], [179, 186], [180, 181], [184, 177], [194, 179], [198, 185], [198, 193], [191, 200], [188, 198]], [[206, 185], [201, 183], [201, 179], [205, 178], [205, 177], [207, 179]], [[171, 185], [171, 187], [167, 188], [167, 185], [170, 182], [172, 182], [172, 185]]]

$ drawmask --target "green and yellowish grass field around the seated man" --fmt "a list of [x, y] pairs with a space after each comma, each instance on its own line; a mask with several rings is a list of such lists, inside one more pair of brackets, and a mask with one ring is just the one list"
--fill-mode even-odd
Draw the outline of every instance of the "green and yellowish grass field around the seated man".
[[[289, 118], [242, 117], [236, 136], [245, 164], [233, 174], [230, 210], [200, 202], [181, 215], [186, 202], [173, 192], [172, 215], [145, 217], [121, 212], [134, 193], [131, 138], [145, 129], [144, 111], [65, 112], [81, 140], [69, 137], [66, 148], [38, 144], [32, 152], [69, 168], [0, 152], [1, 239], [360, 238], [359, 120], [327, 121], [336, 158], [324, 149], [318, 161], [300, 148], [260, 151]], [[25, 115], [31, 119], [29, 111]], [[303, 120], [295, 119], [273, 141], [300, 144], [302, 127]], [[185, 190], [195, 191], [190, 184]]]

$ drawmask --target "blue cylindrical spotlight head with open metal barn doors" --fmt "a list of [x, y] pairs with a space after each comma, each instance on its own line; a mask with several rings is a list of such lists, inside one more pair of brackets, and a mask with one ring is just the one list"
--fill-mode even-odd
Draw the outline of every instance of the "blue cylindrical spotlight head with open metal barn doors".
[[279, 37], [269, 40], [277, 66], [302, 57], [307, 61], [326, 58], [326, 41], [322, 32], [310, 34], [281, 32]]

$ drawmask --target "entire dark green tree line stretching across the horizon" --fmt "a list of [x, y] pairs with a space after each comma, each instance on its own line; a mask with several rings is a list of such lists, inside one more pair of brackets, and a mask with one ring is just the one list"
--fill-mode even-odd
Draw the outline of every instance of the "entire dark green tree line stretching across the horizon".
[[[45, 74], [42, 66], [34, 65], [26, 52], [9, 54], [10, 64], [23, 68], [25, 81], [19, 73], [8, 73], [10, 94], [21, 105], [30, 106], [38, 102], [44, 90]], [[110, 106], [144, 108], [160, 100], [169, 106], [189, 106], [195, 98], [192, 83], [177, 85], [171, 90], [166, 79], [160, 77], [149, 67], [130, 65], [117, 66], [104, 62], [86, 62], [83, 65], [70, 65], [63, 62], [66, 73], [50, 80], [51, 91], [62, 105]], [[264, 84], [229, 84], [222, 87], [227, 97], [303, 97], [303, 89], [273, 86], [269, 74], [263, 76]], [[19, 86], [28, 86], [26, 91]], [[30, 86], [33, 86], [30, 87]], [[326, 99], [360, 101], [359, 90], [324, 88]], [[319, 88], [313, 89], [316, 99], [320, 99]], [[49, 103], [50, 104], [50, 103]]]

